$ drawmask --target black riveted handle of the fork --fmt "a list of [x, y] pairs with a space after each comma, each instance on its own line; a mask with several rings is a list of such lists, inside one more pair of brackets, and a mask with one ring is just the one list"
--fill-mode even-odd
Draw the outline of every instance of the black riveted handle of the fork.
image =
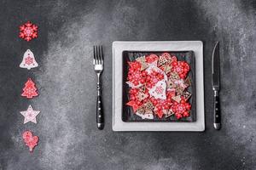
[[96, 123], [97, 123], [98, 129], [102, 130], [104, 127], [104, 114], [103, 114], [103, 108], [102, 108], [102, 94], [101, 94], [100, 83], [97, 83], [97, 90], [98, 90], [98, 96], [97, 96], [97, 104], [96, 104]]

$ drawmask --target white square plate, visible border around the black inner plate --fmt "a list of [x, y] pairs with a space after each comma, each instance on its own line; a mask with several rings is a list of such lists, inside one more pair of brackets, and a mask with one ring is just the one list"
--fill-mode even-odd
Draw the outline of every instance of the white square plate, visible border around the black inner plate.
[[[195, 54], [194, 122], [127, 122], [124, 120], [124, 52], [177, 52]], [[113, 131], [204, 131], [203, 44], [189, 42], [113, 42]]]

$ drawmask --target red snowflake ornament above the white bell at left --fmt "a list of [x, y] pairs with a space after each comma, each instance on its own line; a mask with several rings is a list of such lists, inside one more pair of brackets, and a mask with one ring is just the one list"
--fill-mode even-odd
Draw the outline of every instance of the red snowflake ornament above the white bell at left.
[[20, 26], [20, 38], [27, 42], [38, 37], [38, 26], [32, 24], [31, 21], [27, 21], [25, 24]]

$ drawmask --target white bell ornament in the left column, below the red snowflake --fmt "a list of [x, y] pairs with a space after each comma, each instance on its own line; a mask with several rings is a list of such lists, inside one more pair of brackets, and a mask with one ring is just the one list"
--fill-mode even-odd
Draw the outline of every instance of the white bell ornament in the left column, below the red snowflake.
[[20, 68], [26, 68], [27, 70], [30, 70], [35, 67], [38, 67], [38, 63], [34, 57], [34, 54], [30, 49], [27, 49], [20, 63]]

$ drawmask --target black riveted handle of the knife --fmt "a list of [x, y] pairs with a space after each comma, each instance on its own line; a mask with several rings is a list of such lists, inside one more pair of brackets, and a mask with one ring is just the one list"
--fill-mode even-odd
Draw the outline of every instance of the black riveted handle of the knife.
[[218, 97], [218, 91], [214, 91], [214, 114], [213, 114], [213, 125], [214, 128], [219, 130], [221, 127], [221, 116], [220, 116], [220, 105], [219, 105], [219, 97]]

